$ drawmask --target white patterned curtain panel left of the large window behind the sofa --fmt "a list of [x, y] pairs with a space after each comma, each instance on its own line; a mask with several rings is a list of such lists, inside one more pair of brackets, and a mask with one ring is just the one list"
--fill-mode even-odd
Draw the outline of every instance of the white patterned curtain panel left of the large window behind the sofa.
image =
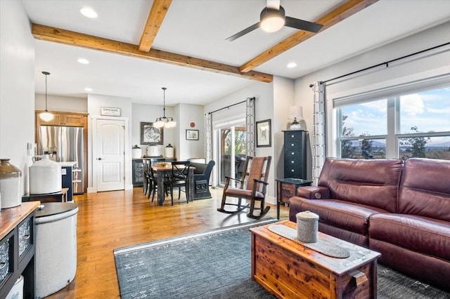
[[316, 81], [313, 86], [314, 91], [314, 135], [312, 140], [312, 179], [314, 185], [319, 181], [319, 175], [325, 163], [325, 130], [326, 130], [326, 109], [325, 109], [325, 83]]

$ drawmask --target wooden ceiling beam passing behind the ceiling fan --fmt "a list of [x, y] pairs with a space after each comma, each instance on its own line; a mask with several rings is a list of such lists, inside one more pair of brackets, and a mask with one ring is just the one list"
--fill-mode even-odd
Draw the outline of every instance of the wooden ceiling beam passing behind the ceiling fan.
[[[333, 25], [338, 24], [338, 22], [349, 18], [350, 16], [358, 13], [359, 11], [362, 11], [368, 6], [371, 6], [377, 1], [378, 0], [349, 0], [344, 4], [338, 6], [338, 8], [333, 9], [333, 11], [330, 11], [330, 13], [327, 13], [321, 18], [315, 20], [314, 22], [323, 25], [322, 29], [319, 31], [323, 32]], [[258, 67], [264, 62], [271, 60], [272, 58], [280, 55], [285, 51], [288, 51], [290, 48], [301, 44], [303, 41], [306, 41], [314, 35], [316, 35], [316, 33], [314, 32], [299, 30], [295, 34], [289, 36], [287, 39], [257, 55], [257, 57], [252, 58], [252, 60], [245, 62], [245, 64], [239, 67], [239, 70], [240, 72], [250, 72], [252, 69], [255, 69], [255, 67]]]

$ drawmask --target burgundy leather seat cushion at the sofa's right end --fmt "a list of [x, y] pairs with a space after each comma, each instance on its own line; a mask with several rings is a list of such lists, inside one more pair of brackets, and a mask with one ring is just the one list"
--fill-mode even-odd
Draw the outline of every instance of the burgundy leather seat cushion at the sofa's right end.
[[450, 261], [450, 223], [416, 215], [376, 214], [370, 218], [371, 239]]

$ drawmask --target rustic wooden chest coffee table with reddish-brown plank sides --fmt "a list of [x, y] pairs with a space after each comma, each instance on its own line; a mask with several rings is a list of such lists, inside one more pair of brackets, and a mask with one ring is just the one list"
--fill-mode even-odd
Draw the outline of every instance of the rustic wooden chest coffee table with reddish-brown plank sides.
[[[289, 220], [274, 224], [297, 230]], [[331, 258], [297, 241], [271, 232], [270, 225], [252, 228], [252, 279], [278, 298], [376, 298], [380, 253], [319, 232], [349, 251]]]

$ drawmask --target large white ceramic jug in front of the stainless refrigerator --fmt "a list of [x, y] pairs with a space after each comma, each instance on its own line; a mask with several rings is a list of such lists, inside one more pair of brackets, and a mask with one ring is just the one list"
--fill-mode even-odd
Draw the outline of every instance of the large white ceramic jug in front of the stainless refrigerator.
[[[38, 156], [39, 157], [39, 156]], [[30, 194], [60, 192], [62, 187], [61, 166], [49, 159], [48, 154], [41, 156], [30, 166]]]

